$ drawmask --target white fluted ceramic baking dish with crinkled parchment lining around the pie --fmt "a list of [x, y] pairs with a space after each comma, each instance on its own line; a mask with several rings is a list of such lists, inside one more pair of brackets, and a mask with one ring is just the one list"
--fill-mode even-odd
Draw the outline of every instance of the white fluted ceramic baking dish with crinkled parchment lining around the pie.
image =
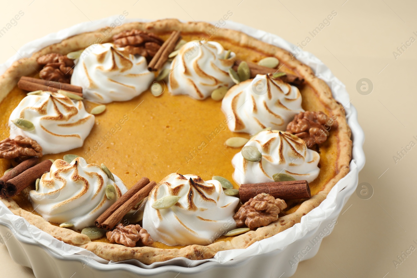
[[[5, 64], [0, 65], [0, 74], [3, 74], [11, 63], [21, 57], [29, 57], [37, 50], [71, 35], [111, 25], [116, 18], [111, 17], [95, 22], [81, 23], [28, 43], [18, 51], [18, 54], [10, 58]], [[148, 20], [125, 20], [125, 22], [131, 21]], [[357, 121], [357, 112], [350, 104], [349, 95], [343, 83], [334, 77], [331, 71], [314, 55], [296, 50], [291, 43], [264, 31], [230, 21], [224, 27], [242, 31], [254, 38], [292, 52], [297, 59], [309, 65], [316, 75], [329, 85], [334, 98], [344, 105], [348, 124], [352, 129], [352, 161], [349, 174], [332, 188], [326, 200], [303, 216], [301, 223], [297, 223], [271, 238], [254, 243], [246, 249], [221, 251], [211, 260], [191, 261], [185, 258], [176, 258], [168, 262], [154, 263], [148, 266], [132, 260], [109, 263], [87, 250], [62, 255], [65, 252], [60, 252], [60, 250], [70, 248], [69, 245], [65, 246], [67, 244], [62, 242], [57, 244], [53, 238], [53, 244], [45, 242], [45, 240], [39, 240], [40, 237], [48, 238], [48, 235], [29, 225], [23, 218], [13, 214], [10, 215], [10, 210], [0, 202], [0, 235], [2, 238], [0, 242], [7, 246], [13, 260], [23, 266], [32, 268], [37, 278], [110, 278], [116, 275], [129, 278], [182, 278], [193, 277], [196, 274], [200, 278], [286, 278], [295, 273], [300, 261], [316, 255], [322, 239], [330, 234], [337, 223], [337, 217], [344, 204], [355, 191], [359, 171], [365, 164], [362, 148], [364, 133]], [[19, 226], [16, 226], [16, 223], [20, 223]], [[23, 232], [23, 228], [25, 228], [25, 232]], [[306, 248], [307, 245], [309, 248]]]

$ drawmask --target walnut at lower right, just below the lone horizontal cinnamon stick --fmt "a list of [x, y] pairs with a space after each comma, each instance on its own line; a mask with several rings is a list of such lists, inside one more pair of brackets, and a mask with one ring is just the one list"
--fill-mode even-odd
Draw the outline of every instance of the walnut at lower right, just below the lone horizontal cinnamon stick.
[[284, 200], [275, 199], [273, 196], [260, 193], [244, 203], [233, 216], [238, 227], [246, 224], [254, 229], [266, 226], [278, 219], [280, 210], [286, 208]]

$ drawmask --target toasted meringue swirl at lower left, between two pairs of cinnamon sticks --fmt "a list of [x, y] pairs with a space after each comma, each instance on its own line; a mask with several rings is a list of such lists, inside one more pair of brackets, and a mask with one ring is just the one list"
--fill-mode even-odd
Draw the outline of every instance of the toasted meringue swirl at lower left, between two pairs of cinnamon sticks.
[[[70, 164], [57, 159], [50, 171], [40, 178], [39, 189], [30, 190], [30, 201], [49, 222], [69, 222], [74, 224], [74, 229], [81, 230], [94, 226], [95, 219], [126, 193], [121, 179], [113, 176], [116, 183], [100, 165], [87, 164], [84, 158], [75, 158]], [[113, 200], [106, 197], [109, 184], [116, 189]]]

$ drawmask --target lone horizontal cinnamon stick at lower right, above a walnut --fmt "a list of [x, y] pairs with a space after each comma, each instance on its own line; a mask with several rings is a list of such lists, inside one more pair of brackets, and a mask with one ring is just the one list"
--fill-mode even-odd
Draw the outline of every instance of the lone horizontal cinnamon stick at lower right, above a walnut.
[[239, 188], [241, 201], [244, 203], [259, 193], [268, 193], [274, 198], [294, 200], [310, 198], [310, 186], [306, 180], [279, 181], [274, 183], [242, 184]]

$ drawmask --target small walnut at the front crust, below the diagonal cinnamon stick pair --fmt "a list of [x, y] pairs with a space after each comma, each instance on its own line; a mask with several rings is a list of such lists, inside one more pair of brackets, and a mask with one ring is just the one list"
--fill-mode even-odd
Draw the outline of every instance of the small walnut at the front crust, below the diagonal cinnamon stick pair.
[[151, 235], [149, 235], [148, 231], [138, 224], [123, 226], [123, 224], [120, 223], [114, 228], [114, 230], [108, 231], [106, 236], [110, 242], [116, 242], [128, 247], [135, 247], [136, 242], [139, 240], [141, 240], [141, 243], [146, 246], [153, 244]]

